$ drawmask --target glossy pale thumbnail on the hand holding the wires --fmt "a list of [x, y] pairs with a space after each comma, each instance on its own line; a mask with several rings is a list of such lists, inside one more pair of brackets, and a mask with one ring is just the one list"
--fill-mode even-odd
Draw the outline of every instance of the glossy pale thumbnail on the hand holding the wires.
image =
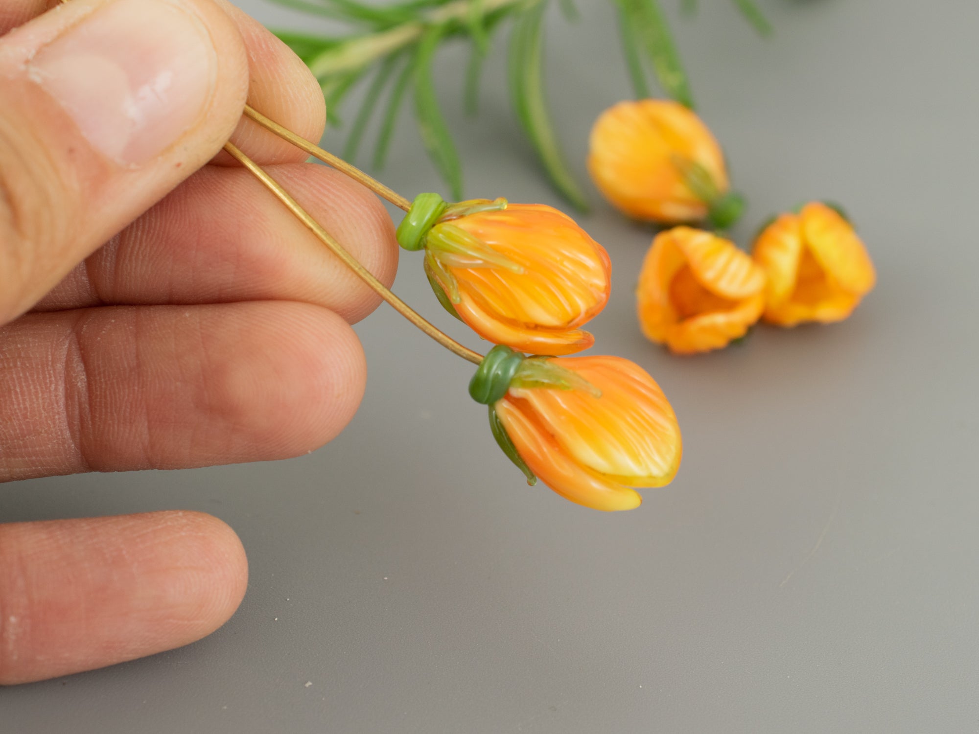
[[166, 0], [117, 0], [28, 65], [94, 148], [123, 164], [159, 156], [200, 117], [217, 60], [197, 17]]

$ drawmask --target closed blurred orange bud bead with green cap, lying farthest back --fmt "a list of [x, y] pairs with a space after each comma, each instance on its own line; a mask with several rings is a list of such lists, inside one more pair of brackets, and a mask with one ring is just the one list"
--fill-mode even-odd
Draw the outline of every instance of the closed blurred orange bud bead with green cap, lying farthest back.
[[602, 113], [591, 129], [588, 170], [605, 198], [637, 219], [682, 224], [713, 213], [724, 228], [744, 206], [729, 193], [714, 135], [670, 100], [621, 102]]

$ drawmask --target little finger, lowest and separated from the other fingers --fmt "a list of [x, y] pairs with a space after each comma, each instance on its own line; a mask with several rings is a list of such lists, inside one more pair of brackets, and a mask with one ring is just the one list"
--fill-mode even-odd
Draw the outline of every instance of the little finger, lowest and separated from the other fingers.
[[187, 645], [247, 584], [235, 531], [204, 513], [0, 525], [0, 685]]

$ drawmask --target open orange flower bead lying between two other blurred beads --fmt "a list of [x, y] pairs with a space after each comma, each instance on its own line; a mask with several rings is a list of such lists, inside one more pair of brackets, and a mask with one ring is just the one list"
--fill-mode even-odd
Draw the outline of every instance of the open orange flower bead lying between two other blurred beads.
[[734, 243], [676, 227], [653, 240], [639, 273], [646, 338], [689, 354], [743, 337], [765, 307], [765, 273]]

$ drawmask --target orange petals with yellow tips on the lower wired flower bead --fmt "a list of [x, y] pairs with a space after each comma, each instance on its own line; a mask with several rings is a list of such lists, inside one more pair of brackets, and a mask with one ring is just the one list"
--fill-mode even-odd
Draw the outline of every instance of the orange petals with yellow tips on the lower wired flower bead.
[[614, 511], [641, 504], [632, 487], [673, 481], [682, 455], [676, 414], [644, 370], [612, 356], [545, 361], [587, 381], [591, 390], [521, 387], [518, 373], [493, 404], [520, 457], [542, 482], [572, 502]]

